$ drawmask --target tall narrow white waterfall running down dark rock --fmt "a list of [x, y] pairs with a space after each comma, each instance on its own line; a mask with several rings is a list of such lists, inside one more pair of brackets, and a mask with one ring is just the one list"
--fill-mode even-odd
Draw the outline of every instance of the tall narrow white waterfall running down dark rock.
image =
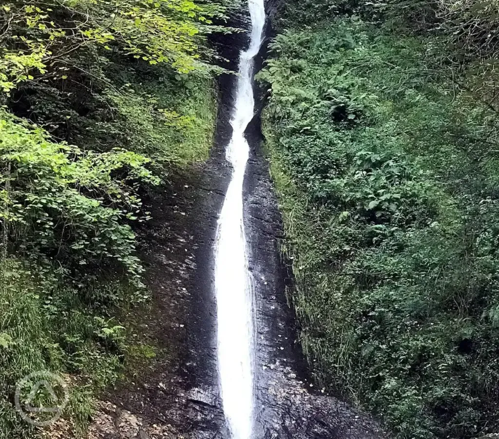
[[253, 291], [243, 218], [243, 180], [250, 146], [244, 133], [254, 113], [253, 60], [263, 38], [263, 1], [249, 0], [250, 47], [239, 59], [231, 120], [234, 133], [226, 152], [234, 170], [219, 218], [215, 255], [219, 376], [232, 439], [250, 439], [253, 423]]

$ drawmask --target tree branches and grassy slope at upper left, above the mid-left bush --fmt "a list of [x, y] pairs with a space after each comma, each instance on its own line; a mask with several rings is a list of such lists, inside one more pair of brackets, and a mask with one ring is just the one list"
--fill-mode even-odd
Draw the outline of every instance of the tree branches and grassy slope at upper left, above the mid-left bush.
[[224, 0], [8, 3], [6, 104], [81, 148], [127, 148], [159, 166], [202, 160], [214, 125], [211, 73], [222, 71], [208, 62], [217, 55], [205, 38], [231, 30], [212, 24], [226, 9]]

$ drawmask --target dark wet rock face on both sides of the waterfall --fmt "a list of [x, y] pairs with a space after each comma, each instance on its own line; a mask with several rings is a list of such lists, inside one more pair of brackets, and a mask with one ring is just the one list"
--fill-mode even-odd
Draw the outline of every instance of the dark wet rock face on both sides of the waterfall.
[[[244, 11], [234, 21], [247, 25]], [[237, 60], [245, 40], [241, 34], [225, 36], [216, 45], [226, 58]], [[169, 183], [145, 200], [153, 220], [141, 238], [153, 304], [135, 317], [134, 326], [158, 354], [150, 367], [103, 398], [91, 439], [226, 437], [217, 377], [213, 247], [231, 174], [224, 150], [231, 135], [234, 80], [226, 75], [220, 81], [210, 160], [184, 173], [173, 172]], [[381, 438], [370, 418], [316, 391], [307, 381], [293, 313], [284, 295], [289, 275], [279, 255], [280, 216], [260, 149], [257, 117], [248, 136], [252, 152], [244, 197], [256, 296], [255, 438]]]

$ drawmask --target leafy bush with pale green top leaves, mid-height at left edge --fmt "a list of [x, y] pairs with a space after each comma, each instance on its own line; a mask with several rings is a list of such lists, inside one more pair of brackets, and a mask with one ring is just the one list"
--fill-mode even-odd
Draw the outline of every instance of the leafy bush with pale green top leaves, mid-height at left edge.
[[3, 113], [0, 122], [3, 213], [18, 254], [61, 260], [67, 268], [116, 260], [137, 280], [135, 235], [125, 219], [140, 212], [141, 182], [157, 184], [149, 160], [113, 150], [83, 153], [51, 143]]

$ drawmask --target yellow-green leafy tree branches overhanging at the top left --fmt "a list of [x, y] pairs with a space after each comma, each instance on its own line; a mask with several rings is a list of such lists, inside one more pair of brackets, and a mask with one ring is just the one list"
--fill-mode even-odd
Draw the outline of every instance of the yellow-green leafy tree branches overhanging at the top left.
[[0, 12], [6, 23], [2, 39], [11, 45], [3, 49], [0, 85], [9, 91], [34, 79], [30, 73], [66, 79], [61, 73], [70, 52], [99, 47], [152, 65], [168, 63], [181, 73], [210, 70], [200, 60], [198, 35], [213, 31], [207, 25], [223, 11], [220, 3], [190, 0], [9, 2]]

